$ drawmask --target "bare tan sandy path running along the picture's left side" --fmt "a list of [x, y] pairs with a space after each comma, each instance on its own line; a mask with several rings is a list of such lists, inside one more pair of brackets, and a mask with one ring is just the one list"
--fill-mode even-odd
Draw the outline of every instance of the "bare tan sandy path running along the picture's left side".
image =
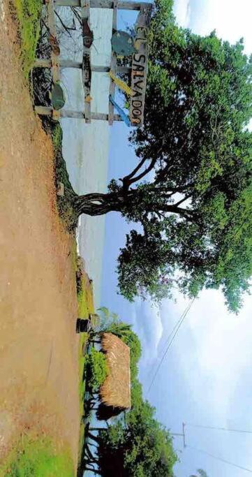
[[35, 428], [68, 443], [76, 464], [72, 242], [55, 209], [50, 140], [22, 85], [14, 27], [0, 3], [0, 452]]

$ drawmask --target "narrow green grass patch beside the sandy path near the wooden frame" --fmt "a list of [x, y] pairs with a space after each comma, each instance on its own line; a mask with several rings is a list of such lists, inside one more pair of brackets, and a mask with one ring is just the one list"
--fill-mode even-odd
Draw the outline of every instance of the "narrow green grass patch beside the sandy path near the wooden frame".
[[20, 27], [21, 59], [24, 69], [24, 78], [28, 80], [36, 57], [42, 2], [41, 0], [13, 0], [13, 3]]

